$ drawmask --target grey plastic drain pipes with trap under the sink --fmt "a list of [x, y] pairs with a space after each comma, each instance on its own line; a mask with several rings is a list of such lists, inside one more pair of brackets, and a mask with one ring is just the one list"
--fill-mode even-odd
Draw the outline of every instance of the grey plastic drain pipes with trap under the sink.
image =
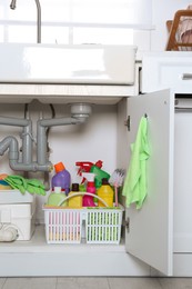
[[71, 118], [40, 119], [37, 122], [37, 162], [32, 161], [32, 122], [29, 119], [0, 117], [0, 124], [23, 127], [22, 161], [19, 162], [18, 140], [10, 136], [0, 142], [0, 156], [9, 149], [10, 168], [16, 171], [51, 171], [52, 163], [47, 157], [47, 134], [49, 127], [83, 123], [92, 112], [91, 104], [71, 104]]

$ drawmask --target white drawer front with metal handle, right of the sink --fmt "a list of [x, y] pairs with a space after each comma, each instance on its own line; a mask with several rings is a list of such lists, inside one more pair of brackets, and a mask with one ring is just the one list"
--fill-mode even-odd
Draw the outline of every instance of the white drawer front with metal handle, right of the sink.
[[164, 51], [143, 56], [142, 92], [168, 88], [176, 93], [191, 93], [192, 52]]

